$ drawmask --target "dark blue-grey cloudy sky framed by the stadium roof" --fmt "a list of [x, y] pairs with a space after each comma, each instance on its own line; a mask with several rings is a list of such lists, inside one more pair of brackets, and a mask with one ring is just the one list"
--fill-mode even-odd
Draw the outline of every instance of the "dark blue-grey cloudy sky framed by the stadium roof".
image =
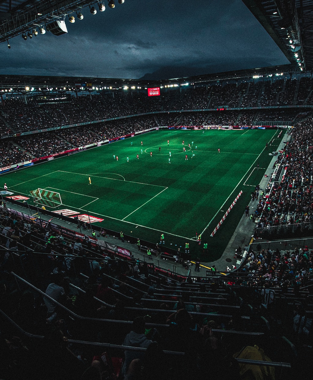
[[[107, 1], [104, 2], [107, 4]], [[241, 0], [125, 0], [0, 44], [0, 74], [177, 78], [289, 63]]]

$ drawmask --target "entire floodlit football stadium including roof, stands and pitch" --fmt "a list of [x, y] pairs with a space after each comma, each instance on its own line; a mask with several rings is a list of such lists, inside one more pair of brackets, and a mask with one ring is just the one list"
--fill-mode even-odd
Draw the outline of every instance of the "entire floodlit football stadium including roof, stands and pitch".
[[[12, 3], [9, 49], [105, 8]], [[288, 64], [0, 75], [0, 378], [309, 378], [313, 3], [243, 4]]]

